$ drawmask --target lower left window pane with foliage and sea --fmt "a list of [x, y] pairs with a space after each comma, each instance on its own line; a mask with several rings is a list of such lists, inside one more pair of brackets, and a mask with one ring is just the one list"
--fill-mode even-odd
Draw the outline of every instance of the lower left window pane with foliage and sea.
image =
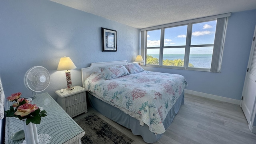
[[159, 48], [147, 49], [146, 64], [159, 65]]

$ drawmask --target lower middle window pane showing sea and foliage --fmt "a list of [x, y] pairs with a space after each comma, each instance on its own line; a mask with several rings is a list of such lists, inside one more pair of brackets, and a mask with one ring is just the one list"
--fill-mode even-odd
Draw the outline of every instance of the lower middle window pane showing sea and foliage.
[[164, 48], [164, 66], [184, 66], [185, 48]]

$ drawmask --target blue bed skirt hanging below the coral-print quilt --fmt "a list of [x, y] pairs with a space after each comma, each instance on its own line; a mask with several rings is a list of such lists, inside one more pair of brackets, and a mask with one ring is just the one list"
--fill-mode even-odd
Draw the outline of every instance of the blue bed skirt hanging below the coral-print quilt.
[[[140, 126], [139, 120], [132, 118], [128, 114], [125, 114], [124, 112], [122, 112], [122, 110], [106, 102], [103, 102], [102, 100], [96, 98], [95, 96], [92, 96], [90, 93], [87, 93], [87, 96], [91, 106], [95, 110], [97, 110], [107, 118], [113, 120], [114, 122], [117, 122], [118, 124], [125, 126], [126, 128], [129, 128], [132, 131], [132, 134], [142, 136], [144, 142], [154, 143], [161, 138], [162, 134], [153, 134], [152, 132], [150, 132], [149, 127], [146, 124], [144, 124], [144, 126]], [[174, 106], [168, 112], [163, 122], [165, 129], [167, 129], [170, 126], [174, 117], [180, 110], [180, 106], [183, 104], [184, 104], [184, 90], [180, 95], [180, 97], [177, 99]]]

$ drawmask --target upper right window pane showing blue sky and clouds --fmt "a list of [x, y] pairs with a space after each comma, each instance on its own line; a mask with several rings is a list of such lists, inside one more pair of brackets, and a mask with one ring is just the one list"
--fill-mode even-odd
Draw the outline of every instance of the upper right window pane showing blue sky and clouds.
[[214, 44], [217, 20], [192, 24], [191, 45]]

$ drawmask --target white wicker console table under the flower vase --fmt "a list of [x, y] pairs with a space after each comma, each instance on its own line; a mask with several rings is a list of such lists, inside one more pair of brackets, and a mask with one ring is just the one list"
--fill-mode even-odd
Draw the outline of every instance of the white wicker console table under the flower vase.
[[[79, 144], [84, 136], [84, 130], [55, 102], [48, 94], [37, 94], [31, 102], [36, 106], [44, 108], [47, 116], [41, 118], [41, 123], [37, 124], [38, 134], [49, 134], [51, 136], [49, 144]], [[13, 102], [6, 101], [5, 108], [8, 110]], [[14, 117], [6, 117], [5, 144], [21, 144], [22, 140], [11, 140], [11, 136], [23, 130], [20, 120]]]

